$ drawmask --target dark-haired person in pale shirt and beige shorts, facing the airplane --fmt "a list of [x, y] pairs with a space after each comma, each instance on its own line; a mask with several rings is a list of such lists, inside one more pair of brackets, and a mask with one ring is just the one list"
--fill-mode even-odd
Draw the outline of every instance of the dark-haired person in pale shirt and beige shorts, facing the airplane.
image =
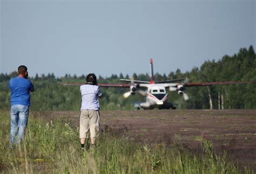
[[[102, 91], [100, 91], [99, 86], [97, 85], [97, 77], [95, 74], [91, 73], [87, 75], [86, 82], [86, 84], [80, 86], [82, 106], [79, 138], [82, 150], [84, 150], [85, 140], [89, 139], [89, 130], [91, 137], [90, 146], [96, 146], [96, 137], [98, 136], [100, 126], [98, 97], [102, 97]], [[89, 147], [86, 148], [89, 149]]]

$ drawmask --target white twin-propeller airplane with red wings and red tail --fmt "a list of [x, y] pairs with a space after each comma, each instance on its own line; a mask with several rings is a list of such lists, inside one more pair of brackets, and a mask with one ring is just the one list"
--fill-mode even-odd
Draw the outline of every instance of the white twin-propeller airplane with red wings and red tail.
[[[185, 79], [171, 79], [168, 81], [155, 82], [153, 75], [153, 60], [150, 59], [151, 77], [150, 81], [137, 81], [134, 79], [120, 79], [120, 81], [130, 82], [129, 84], [110, 84], [110, 83], [98, 83], [98, 86], [107, 87], [119, 87], [119, 88], [130, 88], [130, 91], [124, 93], [124, 98], [134, 95], [139, 92], [141, 95], [146, 97], [146, 102], [139, 103], [138, 108], [143, 109], [176, 109], [176, 107], [167, 102], [168, 93], [166, 90], [178, 91], [179, 95], [183, 95], [184, 100], [188, 100], [187, 94], [184, 92], [185, 88], [191, 86], [207, 86], [216, 84], [237, 84], [237, 83], [251, 83], [250, 81], [236, 81], [236, 82], [204, 82], [204, 83], [173, 83], [184, 81]], [[186, 81], [186, 80], [185, 80]], [[82, 83], [63, 83], [63, 85], [82, 85]], [[144, 90], [140, 90], [144, 89]]]

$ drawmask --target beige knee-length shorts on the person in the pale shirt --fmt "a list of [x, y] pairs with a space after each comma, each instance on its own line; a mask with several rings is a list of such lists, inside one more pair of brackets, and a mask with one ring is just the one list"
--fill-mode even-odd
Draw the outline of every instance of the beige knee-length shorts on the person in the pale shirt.
[[79, 138], [87, 139], [90, 137], [97, 137], [99, 134], [100, 117], [99, 111], [95, 110], [82, 110], [80, 114], [80, 128]]

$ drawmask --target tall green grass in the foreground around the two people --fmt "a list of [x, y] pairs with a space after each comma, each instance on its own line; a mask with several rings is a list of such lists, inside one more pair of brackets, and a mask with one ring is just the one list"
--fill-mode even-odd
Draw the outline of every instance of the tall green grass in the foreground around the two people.
[[[201, 140], [203, 154], [191, 154], [176, 140], [173, 148], [152, 147], [131, 141], [122, 130], [106, 129], [97, 148], [80, 151], [78, 129], [62, 120], [29, 118], [25, 140], [9, 147], [10, 117], [0, 112], [0, 171], [3, 173], [240, 173], [228, 161], [227, 151], [217, 155], [212, 142]], [[250, 169], [246, 173], [253, 173]]]

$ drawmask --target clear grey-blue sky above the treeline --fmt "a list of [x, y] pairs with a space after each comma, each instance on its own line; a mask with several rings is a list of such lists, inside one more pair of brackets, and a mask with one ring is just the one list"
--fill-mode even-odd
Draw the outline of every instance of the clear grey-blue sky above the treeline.
[[256, 48], [256, 0], [0, 0], [0, 73], [168, 75]]

